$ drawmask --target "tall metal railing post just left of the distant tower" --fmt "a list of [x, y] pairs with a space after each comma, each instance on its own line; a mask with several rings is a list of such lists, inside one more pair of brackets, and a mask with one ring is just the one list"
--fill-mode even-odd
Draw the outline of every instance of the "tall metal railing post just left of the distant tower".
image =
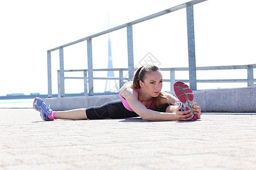
[[89, 96], [93, 96], [93, 61], [92, 61], [92, 39], [87, 39], [87, 59], [88, 59], [88, 84]]

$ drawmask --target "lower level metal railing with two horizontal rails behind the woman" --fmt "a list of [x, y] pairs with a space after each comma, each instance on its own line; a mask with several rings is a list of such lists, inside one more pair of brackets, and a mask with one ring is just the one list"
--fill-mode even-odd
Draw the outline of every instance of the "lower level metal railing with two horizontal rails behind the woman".
[[[247, 82], [247, 87], [256, 87], [256, 79], [253, 78], [253, 69], [256, 68], [256, 64], [253, 65], [236, 65], [236, 66], [210, 66], [210, 67], [196, 67], [196, 70], [234, 70], [234, 69], [246, 69], [247, 70], [247, 79], [200, 79], [196, 80], [197, 83], [245, 83]], [[188, 67], [178, 67], [178, 68], [160, 68], [162, 71], [170, 71], [170, 79], [164, 79], [164, 82], [170, 82], [170, 91], [174, 91], [172, 84], [175, 79], [175, 71], [188, 71]], [[93, 71], [119, 71], [119, 77], [94, 77], [93, 80], [119, 80], [119, 88], [123, 86], [124, 80], [129, 80], [129, 78], [124, 78], [123, 71], [129, 71], [128, 69], [93, 69]], [[84, 96], [88, 96], [88, 69], [85, 70], [64, 70], [64, 72], [83, 72], [83, 77], [70, 77], [64, 76], [64, 79], [84, 79]], [[60, 70], [58, 73], [58, 97], [65, 96], [65, 87], [64, 83], [60, 83]], [[181, 80], [185, 83], [188, 83], [189, 80]], [[90, 90], [90, 89], [89, 89]], [[90, 93], [90, 91], [89, 91]]]

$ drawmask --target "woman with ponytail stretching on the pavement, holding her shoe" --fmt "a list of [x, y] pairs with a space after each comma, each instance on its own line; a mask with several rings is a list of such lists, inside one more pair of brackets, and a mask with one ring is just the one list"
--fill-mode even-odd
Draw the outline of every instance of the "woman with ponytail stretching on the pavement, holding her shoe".
[[163, 78], [156, 66], [140, 67], [133, 78], [119, 90], [121, 100], [98, 107], [54, 112], [42, 99], [36, 97], [33, 106], [44, 121], [55, 119], [87, 120], [130, 118], [140, 116], [147, 121], [189, 121], [201, 116], [201, 109], [193, 103], [192, 90], [183, 82], [175, 82], [177, 96], [162, 92]]

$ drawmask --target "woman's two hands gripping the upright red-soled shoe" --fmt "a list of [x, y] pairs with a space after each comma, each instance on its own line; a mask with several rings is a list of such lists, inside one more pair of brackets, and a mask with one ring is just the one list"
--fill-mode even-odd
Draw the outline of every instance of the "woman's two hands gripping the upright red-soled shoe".
[[[181, 112], [180, 111], [181, 108], [182, 108], [182, 106], [179, 106], [176, 109], [176, 114], [175, 114], [176, 120], [178, 120], [178, 121], [192, 120], [192, 118], [193, 118], [192, 113], [189, 110]], [[200, 106], [196, 105], [196, 103], [193, 106], [193, 111], [195, 112], [194, 114], [196, 114], [198, 118], [201, 117], [202, 113], [201, 113]]]

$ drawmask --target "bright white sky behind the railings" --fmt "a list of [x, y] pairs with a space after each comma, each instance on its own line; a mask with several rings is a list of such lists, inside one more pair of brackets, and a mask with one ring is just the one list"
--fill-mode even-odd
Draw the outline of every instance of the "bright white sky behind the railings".
[[[108, 29], [108, 14], [113, 28], [184, 2], [188, 1], [1, 1], [0, 95], [47, 94], [47, 50]], [[194, 6], [196, 66], [256, 63], [255, 5], [253, 0], [209, 0]], [[134, 25], [134, 65], [151, 52], [160, 61], [159, 67], [188, 67], [185, 16], [183, 9]], [[110, 33], [110, 39], [114, 68], [127, 67], [126, 29]], [[92, 46], [93, 67], [108, 67], [108, 35], [94, 38]], [[86, 41], [64, 48], [64, 69], [87, 69], [86, 60]], [[58, 69], [56, 50], [52, 52], [53, 94], [57, 93]], [[176, 76], [185, 79], [188, 73]], [[170, 77], [164, 74], [164, 78]], [[211, 78], [246, 79], [247, 71], [197, 73], [197, 79]], [[65, 86], [67, 93], [83, 91], [82, 80], [65, 80]], [[104, 91], [105, 82], [94, 86], [95, 92]], [[208, 87], [220, 86], [231, 87]], [[246, 83], [238, 86], [246, 87]]]

